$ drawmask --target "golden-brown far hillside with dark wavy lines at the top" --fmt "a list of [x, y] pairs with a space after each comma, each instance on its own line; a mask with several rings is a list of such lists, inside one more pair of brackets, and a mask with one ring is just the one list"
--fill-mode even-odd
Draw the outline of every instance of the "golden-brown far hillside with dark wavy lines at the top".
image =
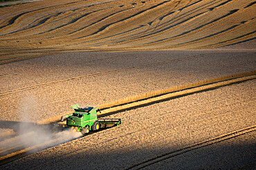
[[255, 7], [253, 0], [19, 4], [0, 9], [1, 61], [73, 51], [223, 47], [255, 39]]

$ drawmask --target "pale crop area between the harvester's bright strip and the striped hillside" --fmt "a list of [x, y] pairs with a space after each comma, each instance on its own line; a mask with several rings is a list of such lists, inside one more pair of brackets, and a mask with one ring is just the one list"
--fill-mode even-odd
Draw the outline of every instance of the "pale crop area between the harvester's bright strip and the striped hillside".
[[19, 113], [31, 112], [28, 119], [37, 122], [72, 111], [69, 106], [75, 103], [102, 105], [250, 72], [255, 70], [255, 52], [84, 52], [8, 63], [0, 69], [1, 120], [19, 121]]

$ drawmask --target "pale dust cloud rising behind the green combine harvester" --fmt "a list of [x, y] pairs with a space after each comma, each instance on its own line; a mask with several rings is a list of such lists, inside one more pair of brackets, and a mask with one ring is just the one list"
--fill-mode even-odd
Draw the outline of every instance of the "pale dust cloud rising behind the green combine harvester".
[[82, 136], [80, 132], [63, 129], [58, 125], [33, 123], [32, 119], [35, 120], [34, 116], [39, 114], [37, 110], [35, 96], [27, 94], [21, 103], [21, 123], [17, 133], [19, 134], [19, 142], [24, 148], [29, 148], [29, 151], [46, 149]]

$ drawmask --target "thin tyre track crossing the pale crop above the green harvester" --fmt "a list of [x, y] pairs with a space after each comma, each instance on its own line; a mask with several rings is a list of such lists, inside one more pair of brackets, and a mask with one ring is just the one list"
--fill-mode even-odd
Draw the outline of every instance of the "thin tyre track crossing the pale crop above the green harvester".
[[66, 79], [63, 79], [63, 80], [60, 80], [60, 81], [42, 83], [42, 84], [39, 84], [39, 85], [32, 85], [32, 86], [28, 86], [28, 87], [23, 87], [23, 88], [20, 88], [20, 89], [13, 89], [13, 90], [10, 90], [8, 92], [1, 92], [0, 96], [5, 96], [7, 94], [13, 94], [13, 93], [17, 93], [17, 92], [23, 92], [23, 91], [26, 91], [26, 90], [35, 89], [35, 88], [39, 88], [39, 87], [46, 87], [48, 85], [55, 85], [56, 83], [62, 83], [62, 82], [65, 82], [65, 81], [74, 81], [74, 80], [79, 80], [79, 79], [82, 79], [82, 78], [90, 78], [90, 77], [102, 76], [102, 75], [106, 75], [106, 74], [113, 74], [113, 73], [116, 73], [116, 72], [124, 72], [124, 71], [127, 71], [127, 70], [140, 69], [140, 68], [143, 68], [143, 67], [152, 67], [154, 65], [164, 65], [164, 64], [172, 63], [172, 62], [179, 62], [179, 61], [188, 60], [188, 59], [196, 59], [196, 58], [199, 58], [199, 57], [203, 57], [205, 55], [206, 54], [185, 56], [185, 57], [180, 58], [180, 59], [170, 59], [170, 60], [167, 60], [167, 61], [161, 61], [161, 62], [157, 62], [157, 63], [149, 63], [149, 64], [146, 64], [146, 65], [138, 65], [138, 66], [134, 66], [134, 67], [127, 67], [127, 68], [123, 68], [123, 69], [119, 69], [119, 70], [109, 70], [109, 71], [106, 71], [106, 72], [97, 72], [97, 73], [93, 73], [93, 74], [86, 74], [84, 76], [76, 76], [76, 77], [72, 77], [72, 78], [66, 78]]

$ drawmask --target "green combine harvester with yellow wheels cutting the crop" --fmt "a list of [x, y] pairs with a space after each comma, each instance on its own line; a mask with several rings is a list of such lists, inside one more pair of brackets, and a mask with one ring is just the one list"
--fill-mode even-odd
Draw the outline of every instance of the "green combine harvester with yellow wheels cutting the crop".
[[73, 127], [82, 134], [89, 134], [89, 131], [96, 131], [103, 127], [118, 126], [122, 123], [120, 118], [98, 118], [98, 107], [80, 107], [80, 105], [71, 106], [75, 112], [62, 116], [61, 121], [66, 120], [65, 127]]

